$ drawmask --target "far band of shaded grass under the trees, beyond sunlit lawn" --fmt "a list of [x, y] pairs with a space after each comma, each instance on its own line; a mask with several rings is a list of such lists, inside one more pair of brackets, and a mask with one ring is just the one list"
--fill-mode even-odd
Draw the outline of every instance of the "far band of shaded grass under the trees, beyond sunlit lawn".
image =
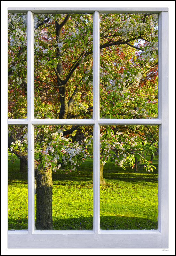
[[[156, 161], [156, 160], [155, 160]], [[156, 161], [157, 162], [157, 161]], [[157, 168], [157, 164], [154, 164]], [[8, 183], [23, 183], [27, 184], [28, 174], [27, 172], [20, 172], [20, 161], [16, 160], [14, 164], [12, 162], [8, 163]], [[93, 160], [87, 159], [76, 171], [68, 172], [58, 170], [56, 173], [52, 173], [53, 184], [54, 181], [92, 181], [93, 182]], [[144, 172], [143, 164], [138, 164], [138, 172], [134, 172], [130, 167], [126, 167], [126, 170], [122, 170], [120, 167], [114, 166], [112, 163], [105, 164], [103, 171], [104, 179], [109, 182], [110, 180], [120, 180], [126, 182], [141, 182], [148, 181], [157, 183], [158, 171], [154, 172]]]

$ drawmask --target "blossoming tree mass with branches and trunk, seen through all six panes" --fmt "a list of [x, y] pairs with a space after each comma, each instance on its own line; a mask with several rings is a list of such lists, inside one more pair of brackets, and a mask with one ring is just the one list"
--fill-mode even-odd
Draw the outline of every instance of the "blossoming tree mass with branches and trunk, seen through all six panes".
[[[35, 117], [92, 118], [92, 14], [36, 14], [34, 21]], [[8, 22], [8, 116], [26, 118], [26, 16], [9, 14]], [[157, 117], [157, 87], [157, 15], [101, 14], [100, 117]], [[16, 128], [14, 136], [9, 128], [8, 136], [8, 147], [25, 163], [26, 129]], [[92, 157], [91, 129], [36, 126], [37, 229], [52, 229], [52, 171], [74, 171]], [[100, 184], [108, 161], [134, 168], [142, 157], [153, 171], [145, 156], [156, 151], [156, 129], [101, 127]]]

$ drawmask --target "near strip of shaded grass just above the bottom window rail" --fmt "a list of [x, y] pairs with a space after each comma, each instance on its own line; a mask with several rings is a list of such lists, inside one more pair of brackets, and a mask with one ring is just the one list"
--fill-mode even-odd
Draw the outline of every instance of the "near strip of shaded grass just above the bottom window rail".
[[[8, 219], [8, 229], [27, 229], [28, 219]], [[102, 230], [132, 230], [132, 229], [157, 229], [157, 221], [145, 218], [100, 216], [100, 229]], [[69, 219], [53, 219], [54, 230], [92, 230], [93, 217], [79, 217]]]

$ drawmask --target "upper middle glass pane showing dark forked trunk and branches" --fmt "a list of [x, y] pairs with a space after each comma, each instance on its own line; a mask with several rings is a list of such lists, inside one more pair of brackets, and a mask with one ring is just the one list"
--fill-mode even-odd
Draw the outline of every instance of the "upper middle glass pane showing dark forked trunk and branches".
[[92, 14], [35, 14], [35, 118], [92, 118]]

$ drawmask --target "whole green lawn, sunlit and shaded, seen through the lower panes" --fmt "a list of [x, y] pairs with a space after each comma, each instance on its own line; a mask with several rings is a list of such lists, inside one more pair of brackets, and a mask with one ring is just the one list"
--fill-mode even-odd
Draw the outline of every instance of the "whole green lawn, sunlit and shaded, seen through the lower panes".
[[[19, 171], [20, 161], [8, 163], [8, 228], [27, 229], [27, 173]], [[153, 161], [157, 167], [157, 157]], [[101, 229], [157, 229], [158, 172], [138, 172], [104, 166], [105, 186], [100, 186]], [[93, 228], [93, 163], [84, 162], [76, 172], [52, 174], [53, 228]]]

